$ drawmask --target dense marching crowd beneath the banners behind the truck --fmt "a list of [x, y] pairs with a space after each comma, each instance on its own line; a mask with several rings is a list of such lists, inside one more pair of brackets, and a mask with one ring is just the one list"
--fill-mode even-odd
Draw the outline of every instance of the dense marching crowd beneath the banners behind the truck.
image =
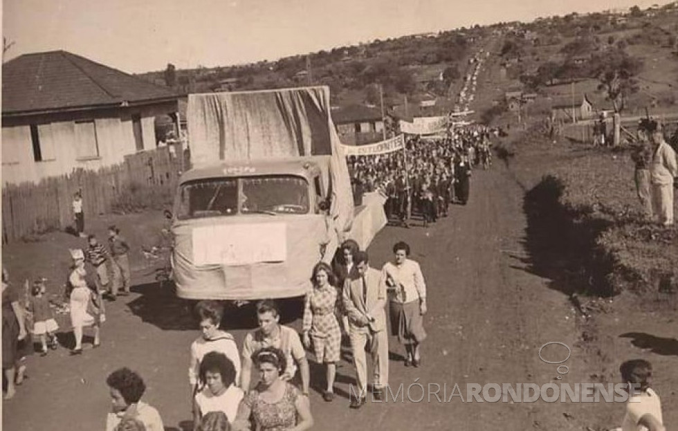
[[409, 226], [412, 212], [421, 214], [424, 226], [447, 217], [450, 203], [466, 205], [474, 167], [492, 165], [491, 135], [482, 125], [455, 129], [446, 138], [413, 136], [404, 151], [376, 156], [350, 156], [354, 189], [380, 190], [387, 196], [389, 219]]

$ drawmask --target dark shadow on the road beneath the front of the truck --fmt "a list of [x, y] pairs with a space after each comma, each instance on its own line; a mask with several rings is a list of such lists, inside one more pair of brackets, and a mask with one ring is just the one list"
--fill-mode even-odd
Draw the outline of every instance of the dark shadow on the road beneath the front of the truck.
[[[198, 328], [193, 313], [197, 301], [176, 297], [171, 283], [165, 283], [163, 287], [158, 282], [139, 284], [131, 291], [139, 293], [140, 297], [127, 303], [127, 307], [144, 322], [165, 330], [195, 331]], [[302, 298], [277, 300], [276, 304], [282, 324], [293, 322], [304, 310]], [[257, 327], [255, 302], [236, 306], [233, 302], [224, 301], [223, 305], [221, 327], [227, 330]]]

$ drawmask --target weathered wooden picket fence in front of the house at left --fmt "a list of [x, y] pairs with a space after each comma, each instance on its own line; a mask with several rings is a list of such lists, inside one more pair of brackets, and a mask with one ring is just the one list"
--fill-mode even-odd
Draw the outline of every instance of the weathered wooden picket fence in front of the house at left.
[[[40, 183], [6, 185], [2, 190], [2, 242], [73, 226], [73, 194], [82, 193], [85, 217], [109, 214], [120, 194], [134, 187], [174, 192], [184, 163], [181, 144], [125, 156], [98, 171], [77, 169]], [[85, 220], [86, 222], [86, 220]]]

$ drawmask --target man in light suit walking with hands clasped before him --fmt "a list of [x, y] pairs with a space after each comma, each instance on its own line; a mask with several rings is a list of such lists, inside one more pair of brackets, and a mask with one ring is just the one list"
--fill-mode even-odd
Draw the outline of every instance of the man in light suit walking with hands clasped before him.
[[374, 365], [374, 399], [381, 401], [388, 385], [388, 334], [386, 331], [386, 283], [381, 273], [369, 267], [367, 253], [354, 255], [358, 269], [356, 279], [347, 279], [343, 300], [349, 316], [349, 337], [358, 380], [358, 397], [351, 398], [351, 408], [365, 403], [367, 391], [367, 363], [365, 345], [369, 345]]

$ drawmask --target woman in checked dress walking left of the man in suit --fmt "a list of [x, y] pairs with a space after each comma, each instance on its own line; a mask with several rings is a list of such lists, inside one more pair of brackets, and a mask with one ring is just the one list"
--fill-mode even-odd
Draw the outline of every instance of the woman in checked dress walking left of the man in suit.
[[324, 363], [327, 369], [327, 389], [322, 394], [325, 401], [334, 399], [334, 378], [337, 374], [341, 348], [341, 330], [335, 310], [337, 307], [337, 288], [332, 268], [324, 262], [313, 267], [311, 276], [313, 289], [306, 294], [304, 301], [304, 336], [302, 342], [306, 349], [311, 347], [315, 361]]

